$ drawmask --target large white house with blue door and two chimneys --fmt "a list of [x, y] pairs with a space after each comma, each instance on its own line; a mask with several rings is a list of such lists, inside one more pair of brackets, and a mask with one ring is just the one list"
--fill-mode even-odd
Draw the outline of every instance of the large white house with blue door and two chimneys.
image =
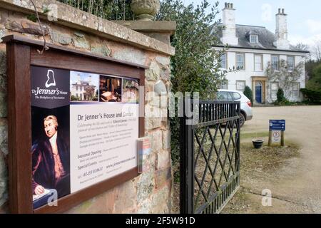
[[[255, 19], [253, 19], [255, 21]], [[222, 27], [222, 24], [220, 24]], [[228, 45], [221, 58], [222, 69], [238, 68], [236, 72], [228, 72], [228, 83], [222, 88], [244, 91], [245, 86], [253, 90], [253, 100], [256, 104], [272, 103], [277, 99], [277, 89], [280, 82], [271, 81], [266, 75], [266, 69], [272, 66], [278, 71], [282, 60], [287, 64], [287, 71], [305, 61], [307, 51], [300, 51], [290, 45], [287, 39], [287, 14], [279, 9], [276, 14], [276, 31], [272, 33], [262, 26], [235, 24], [235, 9], [233, 4], [225, 3], [223, 9], [223, 27], [218, 33], [220, 44], [215, 50], [223, 50]], [[303, 66], [304, 67], [304, 66]], [[291, 81], [286, 93], [290, 101], [301, 101], [300, 88], [305, 88], [305, 69], [296, 81]]]

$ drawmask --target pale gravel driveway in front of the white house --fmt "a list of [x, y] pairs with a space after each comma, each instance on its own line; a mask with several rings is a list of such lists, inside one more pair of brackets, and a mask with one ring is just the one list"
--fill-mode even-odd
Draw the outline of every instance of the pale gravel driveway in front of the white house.
[[[285, 140], [302, 147], [300, 157], [287, 160], [276, 178], [256, 185], [250, 213], [321, 213], [321, 106], [253, 108], [243, 133], [268, 131], [268, 120], [285, 119]], [[272, 191], [272, 207], [263, 207], [260, 192]]]

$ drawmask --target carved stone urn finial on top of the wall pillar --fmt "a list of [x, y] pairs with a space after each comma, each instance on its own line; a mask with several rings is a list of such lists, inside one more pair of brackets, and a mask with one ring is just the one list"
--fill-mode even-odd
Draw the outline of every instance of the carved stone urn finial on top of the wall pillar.
[[133, 0], [131, 2], [131, 10], [140, 21], [152, 21], [159, 9], [159, 0]]

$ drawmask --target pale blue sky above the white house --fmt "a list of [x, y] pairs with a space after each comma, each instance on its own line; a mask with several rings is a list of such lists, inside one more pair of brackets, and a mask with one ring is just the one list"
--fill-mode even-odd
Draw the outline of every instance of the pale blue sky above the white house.
[[[181, 0], [185, 5], [200, 4], [202, 0]], [[214, 0], [208, 0], [215, 4]], [[279, 8], [287, 14], [287, 30], [290, 43], [305, 43], [310, 46], [321, 41], [321, 1], [320, 0], [228, 0], [219, 1], [218, 19], [225, 2], [233, 3], [236, 24], [265, 26], [275, 33], [275, 14]], [[210, 11], [209, 11], [210, 12]]]

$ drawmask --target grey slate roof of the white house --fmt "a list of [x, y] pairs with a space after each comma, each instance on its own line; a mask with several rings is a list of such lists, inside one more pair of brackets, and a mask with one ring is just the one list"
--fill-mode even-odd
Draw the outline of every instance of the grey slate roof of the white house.
[[[220, 28], [222, 24], [218, 24]], [[222, 29], [218, 29], [217, 36], [222, 38], [223, 33]], [[258, 43], [250, 43], [248, 39], [249, 33], [255, 33], [258, 35]], [[237, 46], [230, 46], [233, 48], [250, 48], [250, 49], [260, 49], [260, 50], [270, 50], [270, 51], [294, 51], [294, 52], [302, 52], [302, 53], [309, 53], [308, 51], [302, 51], [295, 46], [290, 45], [290, 49], [282, 50], [278, 49], [274, 46], [274, 42], [276, 41], [275, 33], [267, 30], [265, 27], [261, 26], [247, 26], [247, 25], [236, 25], [236, 36], [238, 37], [238, 45]], [[222, 42], [218, 46], [224, 46]]]

